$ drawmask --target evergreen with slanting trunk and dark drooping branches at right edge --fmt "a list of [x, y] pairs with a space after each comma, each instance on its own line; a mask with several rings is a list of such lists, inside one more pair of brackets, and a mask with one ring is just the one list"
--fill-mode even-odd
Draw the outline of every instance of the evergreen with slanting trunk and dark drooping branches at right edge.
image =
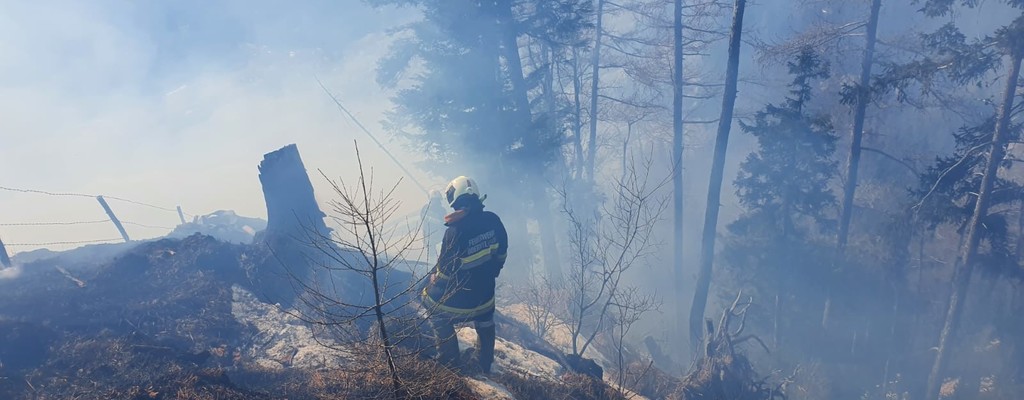
[[[978, 1], [928, 0], [924, 2], [922, 11], [929, 16], [945, 16], [954, 14], [955, 9], [961, 6], [976, 8], [982, 6], [982, 3]], [[986, 258], [980, 245], [987, 241], [992, 248], [990, 255], [1009, 253], [998, 249], [1007, 247], [1004, 245], [1009, 241], [1006, 238], [1007, 229], [999, 227], [999, 217], [993, 217], [990, 211], [993, 206], [998, 205], [1000, 185], [1006, 186], [1007, 182], [999, 177], [999, 171], [1006, 165], [1007, 145], [1017, 132], [1012, 115], [1016, 108], [1016, 89], [1019, 82], [1021, 59], [1024, 58], [1024, 12], [1022, 12], [1024, 2], [1001, 0], [996, 2], [994, 6], [1001, 7], [1004, 12], [1017, 16], [1009, 25], [997, 27], [991, 34], [973, 41], [968, 41], [966, 35], [954, 23], [946, 24], [933, 34], [923, 35], [922, 39], [927, 51], [921, 59], [890, 66], [887, 74], [879, 79], [876, 85], [883, 90], [895, 89], [901, 96], [911, 84], [920, 85], [925, 93], [929, 93], [934, 88], [932, 83], [937, 77], [946, 78], [958, 85], [974, 83], [982, 87], [989, 83], [986, 78], [991, 77], [990, 73], [998, 69], [999, 61], [1006, 60], [1006, 64], [1009, 66], [1007, 69], [1009, 76], [1004, 80], [1005, 87], [1001, 97], [995, 102], [998, 107], [994, 113], [995, 118], [991, 120], [991, 123], [982, 124], [978, 129], [965, 130], [957, 135], [959, 158], [956, 158], [956, 161], [951, 165], [950, 160], [940, 160], [938, 164], [946, 164], [948, 167], [941, 170], [939, 176], [935, 177], [937, 183], [931, 186], [938, 188], [942, 184], [943, 175], [951, 173], [955, 169], [962, 169], [963, 165], [966, 165], [971, 159], [975, 159], [974, 167], [967, 170], [962, 169], [962, 171], [967, 171], [967, 174], [962, 175], [961, 181], [966, 186], [961, 186], [961, 188], [971, 188], [968, 189], [967, 198], [964, 198], [965, 207], [970, 212], [966, 215], [965, 223], [961, 229], [962, 239], [953, 270], [952, 291], [947, 303], [945, 320], [939, 331], [935, 361], [932, 364], [925, 388], [926, 398], [939, 396], [940, 387], [946, 373], [946, 365], [950, 358], [949, 350], [955, 348], [953, 345], [954, 334], [964, 314], [964, 304], [970, 287], [971, 275], [974, 268], [982, 265], [982, 261], [985, 261]], [[964, 144], [970, 144], [972, 141], [976, 141], [978, 144], [965, 149]], [[980, 155], [976, 158], [978, 152]], [[932, 169], [931, 173], [934, 174], [935, 171]], [[954, 184], [947, 187], [946, 195], [950, 196], [949, 198], [955, 198], [964, 193], [964, 190], [957, 192], [956, 186]], [[932, 189], [927, 190], [925, 195], [929, 195], [932, 191]], [[1019, 193], [1019, 191], [1015, 192]], [[942, 216], [938, 219], [947, 218], [949, 217]], [[993, 220], [993, 218], [995, 219]], [[993, 225], [989, 226], [989, 222]]]

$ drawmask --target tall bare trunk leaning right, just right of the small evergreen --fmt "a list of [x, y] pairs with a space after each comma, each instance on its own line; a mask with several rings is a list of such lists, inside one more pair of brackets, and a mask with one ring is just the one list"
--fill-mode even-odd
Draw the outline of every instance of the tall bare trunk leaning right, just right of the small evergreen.
[[[866, 43], [864, 58], [860, 61], [860, 84], [857, 86], [857, 104], [853, 112], [853, 132], [850, 140], [850, 157], [846, 163], [846, 183], [843, 185], [843, 210], [839, 219], [839, 233], [836, 235], [838, 257], [846, 252], [847, 239], [850, 235], [850, 218], [853, 216], [853, 195], [857, 191], [857, 171], [860, 167], [860, 143], [864, 137], [864, 115], [870, 101], [871, 63], [874, 62], [874, 42], [879, 31], [879, 12], [882, 0], [871, 0], [871, 13], [867, 18]], [[829, 285], [827, 281], [826, 285]], [[826, 287], [825, 305], [821, 312], [821, 326], [828, 325], [828, 313], [831, 310], [831, 293]]]

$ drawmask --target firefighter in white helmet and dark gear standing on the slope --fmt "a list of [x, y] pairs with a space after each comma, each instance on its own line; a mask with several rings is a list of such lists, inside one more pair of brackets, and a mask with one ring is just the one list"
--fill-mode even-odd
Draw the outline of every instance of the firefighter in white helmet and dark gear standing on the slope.
[[455, 178], [442, 195], [453, 212], [444, 216], [437, 264], [422, 292], [437, 360], [462, 367], [455, 324], [472, 321], [480, 343], [480, 369], [489, 373], [495, 358], [495, 280], [505, 266], [508, 234], [498, 215], [483, 211], [486, 196], [472, 179]]

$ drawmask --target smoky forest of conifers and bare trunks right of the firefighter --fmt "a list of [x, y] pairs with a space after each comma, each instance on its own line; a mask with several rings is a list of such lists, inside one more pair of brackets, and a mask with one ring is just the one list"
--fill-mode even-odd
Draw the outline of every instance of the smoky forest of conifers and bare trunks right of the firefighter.
[[420, 16], [384, 127], [481, 182], [538, 334], [679, 376], [724, 338], [792, 399], [1024, 395], [1024, 2], [370, 3]]

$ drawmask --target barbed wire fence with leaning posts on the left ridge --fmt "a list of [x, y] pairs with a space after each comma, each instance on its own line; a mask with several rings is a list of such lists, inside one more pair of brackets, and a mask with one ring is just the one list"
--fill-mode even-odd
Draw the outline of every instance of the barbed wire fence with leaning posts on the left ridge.
[[[100, 224], [113, 224], [121, 237], [110, 237], [110, 238], [83, 238], [75, 240], [53, 240], [53, 241], [41, 241], [41, 242], [27, 242], [18, 241], [14, 239], [12, 242], [3, 241], [4, 237], [0, 237], [0, 268], [9, 267], [11, 265], [10, 257], [8, 256], [7, 249], [17, 249], [17, 248], [41, 248], [41, 247], [73, 247], [80, 245], [95, 245], [95, 243], [113, 243], [120, 241], [131, 241], [128, 235], [125, 225], [144, 228], [144, 229], [160, 229], [166, 230], [168, 233], [173, 231], [176, 226], [168, 226], [162, 224], [144, 223], [138, 221], [128, 221], [118, 218], [114, 213], [114, 209], [110, 206], [106, 201], [120, 202], [126, 205], [132, 205], [135, 207], [144, 207], [152, 210], [157, 210], [166, 213], [174, 213], [177, 215], [178, 219], [182, 224], [186, 223], [186, 217], [193, 219], [196, 216], [189, 213], [185, 213], [181, 210], [180, 206], [175, 208], [164, 207], [153, 205], [144, 202], [138, 202], [130, 198], [103, 195], [103, 194], [90, 194], [81, 192], [59, 192], [59, 191], [49, 191], [49, 190], [39, 190], [30, 188], [19, 188], [19, 187], [8, 187], [0, 186], [0, 191], [23, 193], [23, 194], [35, 194], [35, 195], [45, 195], [51, 197], [79, 197], [79, 198], [91, 198], [98, 202], [103, 212], [106, 214], [106, 219], [93, 219], [93, 220], [80, 220], [80, 221], [5, 221], [0, 220], [0, 227], [8, 228], [40, 228], [40, 227], [53, 227], [55, 229], [67, 228], [71, 226], [81, 226], [81, 225], [100, 225]], [[9, 214], [8, 214], [9, 215]], [[15, 236], [16, 237], [16, 236]]]

